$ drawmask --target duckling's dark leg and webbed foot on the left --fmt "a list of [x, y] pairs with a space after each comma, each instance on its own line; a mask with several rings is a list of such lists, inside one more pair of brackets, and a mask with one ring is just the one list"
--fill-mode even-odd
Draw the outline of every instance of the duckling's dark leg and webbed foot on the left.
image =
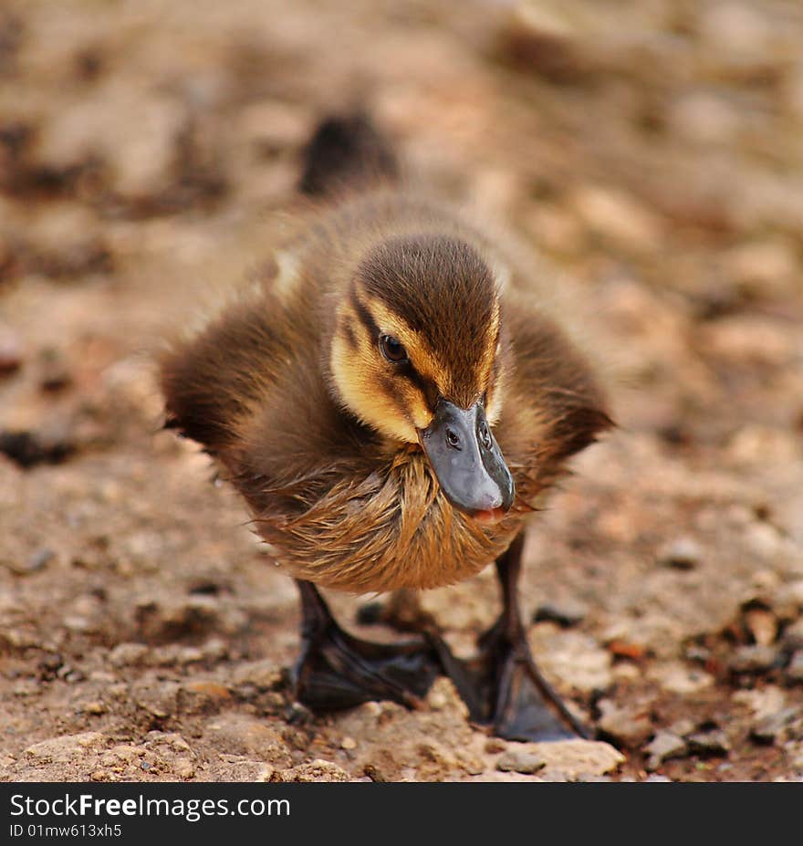
[[294, 667], [296, 696], [313, 711], [331, 711], [391, 699], [421, 705], [440, 663], [428, 641], [371, 643], [338, 625], [318, 590], [298, 581], [302, 650]]

